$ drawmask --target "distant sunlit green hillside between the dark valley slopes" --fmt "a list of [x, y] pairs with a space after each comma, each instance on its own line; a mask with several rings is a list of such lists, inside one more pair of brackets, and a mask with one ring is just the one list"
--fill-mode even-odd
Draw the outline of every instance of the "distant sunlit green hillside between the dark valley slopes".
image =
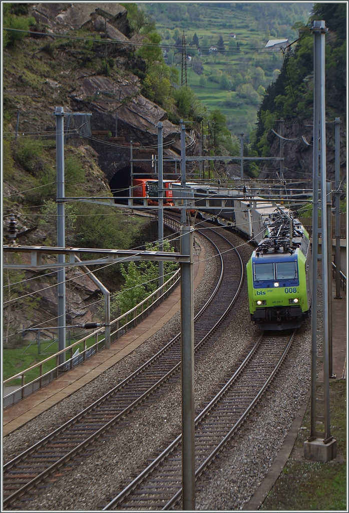
[[[312, 4], [163, 3], [139, 7], [153, 16], [161, 45], [169, 46], [168, 64], [179, 71], [184, 31], [187, 54], [192, 57], [187, 61], [188, 85], [209, 110], [221, 109], [233, 134], [248, 134], [257, 121], [264, 89], [276, 79], [283, 63], [281, 52], [264, 47], [270, 39], [296, 40], [298, 32], [292, 26], [307, 21]], [[210, 52], [211, 46], [218, 51]]]

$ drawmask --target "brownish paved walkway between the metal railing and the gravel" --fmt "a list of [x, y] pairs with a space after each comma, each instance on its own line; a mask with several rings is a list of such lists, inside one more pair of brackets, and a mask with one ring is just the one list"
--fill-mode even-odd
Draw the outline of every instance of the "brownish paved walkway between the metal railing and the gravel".
[[[194, 257], [194, 290], [199, 286], [203, 278], [205, 270], [204, 260], [205, 251], [201, 247], [200, 255], [195, 255]], [[62, 376], [59, 376], [56, 380], [40, 388], [30, 396], [6, 408], [3, 411], [3, 436], [22, 427], [43, 411], [51, 408], [51, 406], [97, 378], [99, 374], [115, 365], [149, 339], [179, 309], [180, 285], [145, 320], [113, 342], [110, 349], [103, 349], [86, 360], [86, 362], [65, 372]]]

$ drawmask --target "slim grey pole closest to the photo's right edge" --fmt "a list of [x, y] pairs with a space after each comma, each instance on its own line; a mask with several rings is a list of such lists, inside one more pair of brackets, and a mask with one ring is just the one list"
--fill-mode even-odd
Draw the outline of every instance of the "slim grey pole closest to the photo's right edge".
[[335, 118], [335, 207], [336, 207], [336, 295], [335, 299], [342, 299], [340, 295], [340, 118]]

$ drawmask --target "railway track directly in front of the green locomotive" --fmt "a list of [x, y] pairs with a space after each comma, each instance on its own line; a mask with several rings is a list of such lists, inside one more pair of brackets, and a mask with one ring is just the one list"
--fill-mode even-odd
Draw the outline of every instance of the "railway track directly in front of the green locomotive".
[[[238, 430], [268, 388], [294, 337], [261, 335], [233, 376], [195, 419], [195, 477], [198, 478]], [[104, 510], [173, 508], [181, 498], [181, 435], [118, 492]]]

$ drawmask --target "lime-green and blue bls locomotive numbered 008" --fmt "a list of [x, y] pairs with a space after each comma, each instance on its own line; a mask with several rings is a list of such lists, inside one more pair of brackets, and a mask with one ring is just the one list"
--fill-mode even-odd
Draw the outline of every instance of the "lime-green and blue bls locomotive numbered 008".
[[261, 330], [299, 327], [311, 310], [309, 234], [297, 219], [274, 212], [247, 264], [251, 319]]

